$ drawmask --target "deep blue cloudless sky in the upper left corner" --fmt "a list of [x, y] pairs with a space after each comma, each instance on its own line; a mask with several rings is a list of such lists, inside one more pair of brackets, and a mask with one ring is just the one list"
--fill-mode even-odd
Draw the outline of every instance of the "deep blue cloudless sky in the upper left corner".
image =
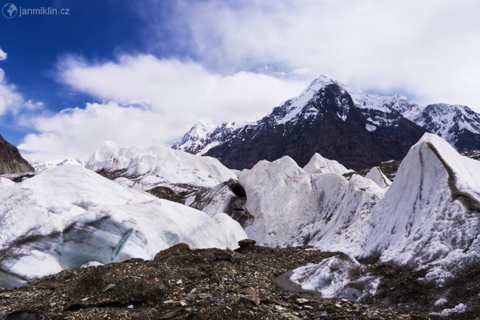
[[[69, 10], [68, 15], [17, 16], [10, 20], [0, 16], [1, 48], [8, 53], [8, 59], [0, 64], [1, 69], [25, 99], [41, 101], [51, 112], [97, 101], [57, 81], [56, 66], [62, 56], [78, 55], [88, 60], [108, 61], [115, 59], [119, 51], [147, 51], [140, 36], [144, 22], [132, 10], [132, 1], [43, 0], [34, 3], [17, 0], [14, 5], [19, 10]], [[12, 143], [21, 143], [25, 133], [31, 130], [12, 125], [11, 116], [0, 119], [1, 134]]]

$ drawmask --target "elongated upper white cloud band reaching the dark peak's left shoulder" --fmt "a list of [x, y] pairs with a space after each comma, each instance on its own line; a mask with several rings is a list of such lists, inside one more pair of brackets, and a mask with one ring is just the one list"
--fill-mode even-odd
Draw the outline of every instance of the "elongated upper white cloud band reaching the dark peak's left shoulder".
[[248, 72], [223, 76], [195, 62], [153, 56], [121, 56], [118, 62], [105, 64], [67, 58], [59, 70], [62, 82], [75, 90], [121, 104], [147, 106], [182, 130], [199, 117], [217, 122], [254, 121], [308, 84]]

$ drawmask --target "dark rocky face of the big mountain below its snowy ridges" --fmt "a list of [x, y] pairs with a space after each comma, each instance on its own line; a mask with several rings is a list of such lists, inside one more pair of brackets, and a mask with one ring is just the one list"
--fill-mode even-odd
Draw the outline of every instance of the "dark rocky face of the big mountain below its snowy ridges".
[[[398, 112], [357, 108], [338, 84], [321, 88], [291, 120], [278, 121], [288, 116], [292, 103], [289, 100], [261, 121], [237, 128], [204, 154], [239, 170], [283, 156], [303, 167], [315, 152], [348, 168], [363, 169], [402, 159], [427, 132]], [[375, 125], [379, 118], [389, 125]]]

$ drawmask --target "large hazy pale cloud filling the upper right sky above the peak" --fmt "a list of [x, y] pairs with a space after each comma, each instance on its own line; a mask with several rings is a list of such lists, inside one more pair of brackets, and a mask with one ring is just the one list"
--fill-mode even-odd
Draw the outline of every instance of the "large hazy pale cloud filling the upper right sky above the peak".
[[[307, 69], [352, 88], [480, 111], [478, 1], [176, 3], [172, 23], [176, 36], [187, 39], [178, 44], [219, 72]], [[161, 34], [158, 25], [149, 28], [149, 36]]]

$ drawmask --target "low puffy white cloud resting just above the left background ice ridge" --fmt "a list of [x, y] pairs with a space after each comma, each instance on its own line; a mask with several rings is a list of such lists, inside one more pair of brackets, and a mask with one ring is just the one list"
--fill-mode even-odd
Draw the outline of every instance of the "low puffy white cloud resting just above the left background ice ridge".
[[87, 103], [57, 114], [28, 117], [21, 124], [38, 134], [27, 134], [19, 149], [27, 160], [80, 158], [87, 160], [104, 140], [121, 145], [160, 145], [171, 136], [161, 114], [114, 102]]

